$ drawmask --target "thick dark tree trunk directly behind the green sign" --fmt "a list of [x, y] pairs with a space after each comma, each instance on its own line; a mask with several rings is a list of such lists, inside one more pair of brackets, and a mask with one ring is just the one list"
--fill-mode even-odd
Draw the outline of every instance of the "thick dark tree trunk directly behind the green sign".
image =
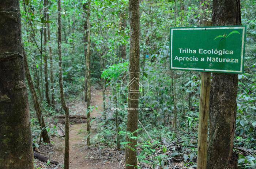
[[[214, 0], [212, 23], [214, 26], [240, 25], [240, 0]], [[207, 169], [238, 168], [238, 157], [233, 152], [237, 85], [237, 74], [212, 74]]]

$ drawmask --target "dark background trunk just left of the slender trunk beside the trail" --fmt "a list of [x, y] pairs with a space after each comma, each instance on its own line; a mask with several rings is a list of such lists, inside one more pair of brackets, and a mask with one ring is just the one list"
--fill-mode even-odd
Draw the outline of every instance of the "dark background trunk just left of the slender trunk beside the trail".
[[[87, 55], [87, 44], [88, 44], [88, 27], [87, 27], [87, 13], [88, 13], [88, 3], [83, 4], [83, 11], [84, 11], [84, 60], [86, 60]], [[85, 63], [86, 64], [86, 63]], [[85, 68], [84, 72], [84, 101], [87, 102], [87, 67]]]

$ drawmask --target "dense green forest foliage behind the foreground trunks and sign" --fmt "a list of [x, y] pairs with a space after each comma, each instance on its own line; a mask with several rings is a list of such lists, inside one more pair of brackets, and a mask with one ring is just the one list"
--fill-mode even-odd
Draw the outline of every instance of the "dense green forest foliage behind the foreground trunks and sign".
[[[93, 132], [85, 134], [84, 139], [91, 138], [91, 149], [122, 152], [127, 146], [125, 135], [131, 134], [126, 131], [127, 110], [113, 108], [128, 106], [121, 90], [121, 81], [129, 66], [128, 0], [92, 0], [90, 10], [86, 0], [61, 3], [63, 85], [66, 102], [69, 107], [73, 106], [70, 115], [87, 114], [83, 105], [86, 105], [89, 11], [91, 99], [103, 100], [102, 105], [92, 104], [89, 110], [98, 111], [100, 115], [92, 119]], [[54, 145], [52, 138], [61, 137], [59, 130], [63, 127], [59, 121], [64, 114], [58, 78], [57, 2], [24, 0], [20, 5], [22, 40], [29, 70], [45, 127]], [[239, 168], [255, 168], [256, 165], [255, 8], [255, 0], [241, 0], [242, 25], [247, 26], [247, 32], [244, 74], [238, 75], [234, 137]], [[200, 72], [170, 70], [169, 28], [199, 26], [203, 20], [211, 20], [211, 16], [210, 0], [140, 1], [140, 72], [148, 79], [149, 90], [139, 100], [139, 107], [152, 108], [139, 111], [136, 139], [141, 168], [196, 166]], [[33, 142], [38, 147], [42, 127], [38, 123], [33, 95], [28, 91]], [[79, 106], [80, 114], [76, 111]], [[71, 120], [72, 123], [75, 122]], [[85, 130], [86, 127], [81, 128], [78, 134]]]

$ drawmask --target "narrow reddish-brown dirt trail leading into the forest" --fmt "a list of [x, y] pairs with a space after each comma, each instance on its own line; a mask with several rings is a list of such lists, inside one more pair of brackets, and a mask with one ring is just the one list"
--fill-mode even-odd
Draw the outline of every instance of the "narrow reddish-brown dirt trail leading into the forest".
[[[91, 94], [91, 105], [97, 106], [98, 110], [94, 109], [91, 113], [91, 117], [98, 118], [101, 116], [103, 108], [103, 100], [101, 91], [94, 90]], [[86, 103], [76, 102], [70, 106], [70, 113], [85, 114]], [[97, 121], [93, 122], [91, 126], [91, 138], [96, 133]], [[72, 124], [69, 131], [70, 152], [69, 161], [70, 169], [118, 169], [123, 168], [120, 166], [119, 161], [106, 161], [93, 157], [93, 149], [90, 149], [86, 145], [86, 123]], [[64, 162], [64, 139], [56, 138], [53, 144], [56, 154], [53, 154], [52, 158], [58, 160], [63, 164]]]

